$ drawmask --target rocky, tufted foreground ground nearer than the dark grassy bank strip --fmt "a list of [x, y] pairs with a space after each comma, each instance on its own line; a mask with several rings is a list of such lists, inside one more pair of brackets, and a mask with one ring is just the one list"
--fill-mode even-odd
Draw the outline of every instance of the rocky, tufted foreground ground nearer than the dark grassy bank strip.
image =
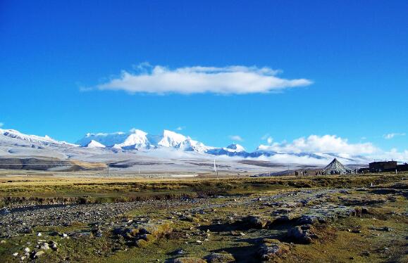
[[406, 262], [407, 184], [0, 211], [3, 262]]

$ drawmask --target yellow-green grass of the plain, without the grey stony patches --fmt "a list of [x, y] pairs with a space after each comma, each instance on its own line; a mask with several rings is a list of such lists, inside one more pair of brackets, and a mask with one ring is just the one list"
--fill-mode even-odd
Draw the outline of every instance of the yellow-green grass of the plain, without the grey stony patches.
[[[137, 209], [117, 214], [109, 222], [100, 222], [106, 223], [106, 227], [102, 227], [104, 234], [99, 238], [51, 236], [54, 231], [70, 234], [89, 232], [94, 227], [91, 224], [38, 224], [32, 233], [3, 238], [0, 258], [3, 262], [19, 262], [21, 250], [27, 243], [36, 244], [43, 238], [57, 240], [59, 249], [46, 251], [34, 261], [164, 262], [181, 257], [198, 260], [211, 252], [228, 252], [236, 262], [261, 262], [259, 247], [262, 240], [273, 238], [290, 249], [283, 255], [266, 260], [268, 262], [407, 262], [407, 176], [365, 174], [225, 179], [0, 177], [0, 198], [7, 207], [157, 200], [157, 203], [142, 202]], [[179, 201], [186, 197], [192, 202]], [[299, 203], [304, 200], [306, 203]], [[288, 229], [297, 225], [295, 220], [283, 223], [276, 220], [277, 215], [282, 216], [279, 214], [281, 210], [288, 214], [305, 213], [309, 209], [330, 205], [352, 210], [364, 207], [366, 212], [316, 224], [314, 227], [319, 238], [310, 244], [288, 238]], [[242, 223], [250, 215], [269, 223], [261, 228]], [[144, 219], [154, 224], [170, 222], [172, 231], [154, 238], [145, 246], [135, 245], [132, 240], [123, 240], [113, 233], [116, 226], [125, 224], [130, 227], [131, 224], [125, 223], [128, 220], [140, 222]], [[382, 230], [385, 227], [387, 231]], [[35, 235], [37, 232], [44, 236], [39, 238]], [[183, 255], [176, 254], [180, 250], [183, 250]], [[13, 252], [19, 252], [18, 257], [13, 257]]]

